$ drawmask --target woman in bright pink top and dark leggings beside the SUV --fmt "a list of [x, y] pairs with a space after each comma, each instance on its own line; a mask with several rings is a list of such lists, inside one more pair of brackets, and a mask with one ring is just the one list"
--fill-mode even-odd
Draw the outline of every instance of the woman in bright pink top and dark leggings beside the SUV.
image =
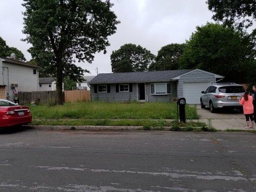
[[[243, 105], [243, 109], [244, 109], [244, 115], [245, 115], [245, 119], [246, 119], [246, 123], [247, 123], [247, 127], [245, 127], [245, 129], [254, 128], [253, 97], [250, 96], [248, 91], [245, 91], [244, 96], [239, 101], [239, 103], [240, 103], [240, 105]], [[250, 127], [249, 118], [251, 119], [252, 127]]]

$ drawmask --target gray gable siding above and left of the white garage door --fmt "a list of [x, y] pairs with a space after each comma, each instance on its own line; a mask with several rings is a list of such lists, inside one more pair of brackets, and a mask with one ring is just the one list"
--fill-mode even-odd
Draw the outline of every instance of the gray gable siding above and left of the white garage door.
[[212, 74], [206, 72], [195, 71], [181, 76], [177, 84], [177, 96], [183, 97], [183, 83], [184, 82], [210, 82], [211, 84], [216, 83], [216, 78]]

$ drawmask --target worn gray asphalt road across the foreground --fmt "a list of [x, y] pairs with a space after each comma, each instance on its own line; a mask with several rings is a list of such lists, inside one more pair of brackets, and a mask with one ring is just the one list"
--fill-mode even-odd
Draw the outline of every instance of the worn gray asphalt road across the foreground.
[[256, 134], [0, 131], [0, 192], [256, 192]]

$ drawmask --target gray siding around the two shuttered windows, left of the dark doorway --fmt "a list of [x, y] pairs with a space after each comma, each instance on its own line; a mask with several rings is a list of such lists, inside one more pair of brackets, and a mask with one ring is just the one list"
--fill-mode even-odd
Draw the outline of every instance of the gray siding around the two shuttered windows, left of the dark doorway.
[[137, 100], [137, 87], [133, 84], [133, 92], [116, 93], [116, 84], [110, 84], [110, 93], [94, 93], [94, 85], [90, 85], [91, 101], [134, 101]]

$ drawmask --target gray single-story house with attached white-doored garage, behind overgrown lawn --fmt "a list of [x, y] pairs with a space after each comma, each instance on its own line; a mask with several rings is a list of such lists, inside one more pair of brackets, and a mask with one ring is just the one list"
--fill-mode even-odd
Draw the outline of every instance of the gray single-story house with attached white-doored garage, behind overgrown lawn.
[[222, 78], [200, 69], [100, 73], [90, 81], [90, 93], [92, 101], [168, 102], [185, 97], [188, 104], [199, 104], [201, 91]]

